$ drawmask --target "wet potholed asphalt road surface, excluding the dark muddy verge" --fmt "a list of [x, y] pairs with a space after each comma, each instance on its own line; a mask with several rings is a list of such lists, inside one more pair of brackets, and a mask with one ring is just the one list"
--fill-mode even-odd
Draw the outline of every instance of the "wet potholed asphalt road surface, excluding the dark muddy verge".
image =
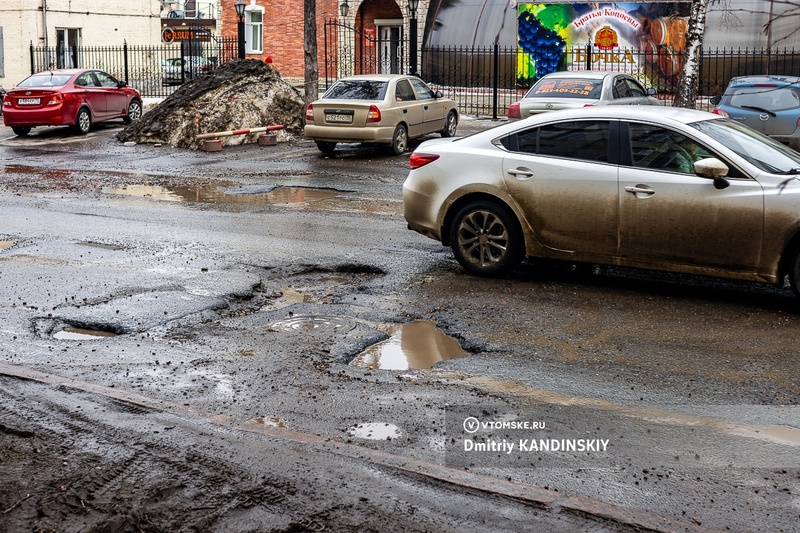
[[[476, 279], [405, 228], [408, 154], [125, 146], [119, 127], [0, 128], [3, 365], [588, 498], [664, 530], [795, 527], [788, 289], [537, 261]], [[444, 360], [404, 368], [415, 350]]]

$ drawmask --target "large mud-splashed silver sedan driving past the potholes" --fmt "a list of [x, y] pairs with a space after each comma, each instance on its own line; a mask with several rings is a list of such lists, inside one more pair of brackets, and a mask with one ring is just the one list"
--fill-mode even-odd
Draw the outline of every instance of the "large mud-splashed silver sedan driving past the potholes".
[[525, 256], [781, 284], [800, 296], [800, 154], [671, 107], [554, 111], [429, 140], [403, 186], [408, 227], [461, 266]]

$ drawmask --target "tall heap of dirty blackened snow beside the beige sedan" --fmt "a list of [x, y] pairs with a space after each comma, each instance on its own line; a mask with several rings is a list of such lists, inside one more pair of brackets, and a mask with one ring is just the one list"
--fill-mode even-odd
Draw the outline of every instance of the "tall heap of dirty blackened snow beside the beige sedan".
[[[189, 80], [117, 134], [122, 142], [200, 148], [198, 134], [283, 126], [278, 141], [303, 133], [303, 97], [270, 65], [230, 61]], [[261, 132], [264, 133], [264, 132]], [[261, 133], [219, 137], [224, 145], [254, 143]]]

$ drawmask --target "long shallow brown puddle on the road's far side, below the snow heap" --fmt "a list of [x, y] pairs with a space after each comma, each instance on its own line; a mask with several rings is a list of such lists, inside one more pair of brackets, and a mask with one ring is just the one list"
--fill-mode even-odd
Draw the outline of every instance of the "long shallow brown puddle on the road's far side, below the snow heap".
[[296, 204], [312, 203], [336, 197], [335, 189], [315, 189], [311, 187], [277, 187], [266, 193], [229, 194], [218, 186], [204, 187], [159, 185], [125, 185], [122, 187], [103, 187], [105, 194], [141, 196], [169, 202], [199, 202], [206, 204]]

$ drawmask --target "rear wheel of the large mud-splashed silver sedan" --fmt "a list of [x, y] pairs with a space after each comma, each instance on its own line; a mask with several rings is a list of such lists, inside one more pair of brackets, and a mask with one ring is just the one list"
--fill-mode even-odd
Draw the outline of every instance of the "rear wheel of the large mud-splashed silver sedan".
[[458, 211], [450, 227], [450, 245], [464, 270], [478, 276], [506, 274], [524, 254], [516, 220], [491, 201], [472, 202]]

